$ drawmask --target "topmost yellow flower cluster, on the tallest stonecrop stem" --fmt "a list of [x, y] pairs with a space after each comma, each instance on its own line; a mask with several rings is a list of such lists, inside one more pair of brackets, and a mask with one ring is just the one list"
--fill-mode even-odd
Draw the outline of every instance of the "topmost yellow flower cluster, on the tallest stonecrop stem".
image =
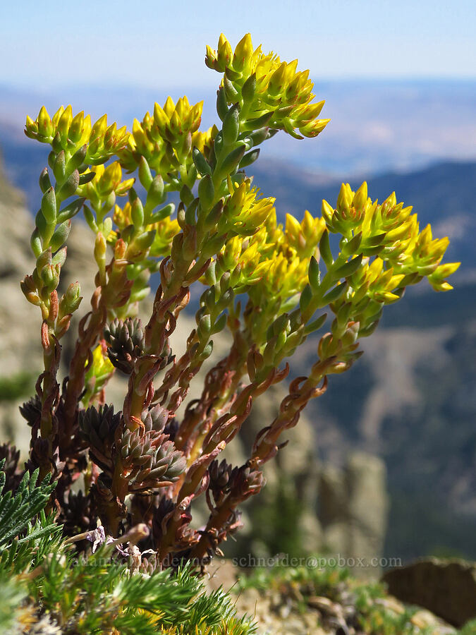
[[297, 59], [287, 63], [272, 52], [264, 54], [261, 46], [253, 49], [249, 33], [234, 53], [222, 33], [216, 51], [207, 46], [205, 63], [224, 73], [222, 86], [228, 104], [240, 103], [249, 120], [243, 124], [246, 129], [267, 125], [302, 139], [317, 136], [330, 121], [317, 119], [324, 102], [312, 103], [315, 95], [309, 71], [297, 71]]

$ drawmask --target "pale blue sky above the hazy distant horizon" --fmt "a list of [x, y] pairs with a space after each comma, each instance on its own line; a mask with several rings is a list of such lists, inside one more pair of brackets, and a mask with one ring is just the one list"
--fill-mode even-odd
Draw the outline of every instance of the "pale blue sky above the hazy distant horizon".
[[298, 57], [312, 78], [476, 77], [474, 0], [56, 0], [0, 3], [0, 81], [215, 85], [205, 44], [223, 31]]

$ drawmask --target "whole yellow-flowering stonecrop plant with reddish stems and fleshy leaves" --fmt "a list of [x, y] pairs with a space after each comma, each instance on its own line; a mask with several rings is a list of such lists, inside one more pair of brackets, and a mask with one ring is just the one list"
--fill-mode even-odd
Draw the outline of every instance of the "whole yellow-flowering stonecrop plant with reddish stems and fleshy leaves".
[[[31, 236], [36, 266], [21, 283], [41, 313], [44, 353], [35, 397], [22, 409], [32, 430], [26, 470], [51, 475], [50, 509], [78, 548], [98, 527], [114, 540], [140, 527], [138, 548], [159, 569], [209, 562], [240, 527], [238, 508], [264, 486], [262, 468], [287, 430], [325, 392], [329, 375], [358, 359], [360, 339], [384, 308], [424, 278], [437, 291], [451, 289], [446, 278], [458, 267], [441, 264], [448, 238], [433, 238], [430, 226], [420, 231], [394, 193], [372, 200], [366, 183], [355, 192], [343, 184], [317, 216], [288, 214], [279, 224], [274, 199], [260, 195], [248, 168], [279, 131], [319, 135], [329, 121], [319, 119], [324, 102], [314, 101], [297, 60], [264, 54], [250, 35], [234, 52], [221, 35], [205, 63], [221, 75], [218, 123], [209, 130], [200, 130], [202, 102], [186, 97], [154, 104], [131, 132], [106, 115], [92, 124], [71, 107], [53, 117], [42, 108], [25, 128], [51, 148]], [[82, 306], [77, 282], [58, 292], [79, 212], [95, 236], [96, 289], [60, 386], [61, 338]], [[138, 317], [151, 280], [152, 312]], [[192, 285], [202, 285], [196, 327], [176, 357], [169, 339]], [[228, 354], [207, 373], [200, 399], [181, 408], [224, 329]], [[315, 363], [291, 381], [248, 460], [221, 460], [252, 402], [285, 380], [310, 334], [318, 334]], [[114, 373], [128, 377], [117, 412], [107, 400]], [[199, 497], [209, 507], [201, 527], [193, 524]]]

